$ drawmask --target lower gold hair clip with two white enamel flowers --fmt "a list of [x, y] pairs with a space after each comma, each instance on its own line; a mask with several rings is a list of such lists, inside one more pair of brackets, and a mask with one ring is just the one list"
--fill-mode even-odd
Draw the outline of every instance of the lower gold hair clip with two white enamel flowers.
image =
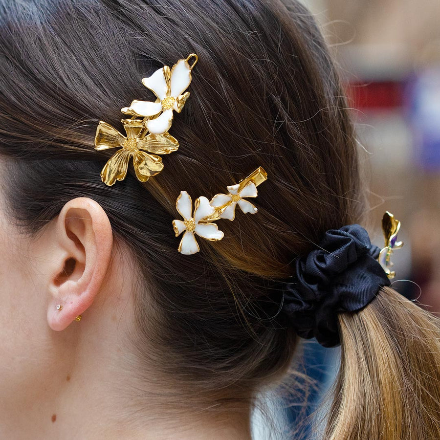
[[173, 228], [178, 237], [184, 232], [177, 250], [184, 255], [196, 254], [200, 248], [196, 235], [205, 240], [217, 242], [224, 236], [214, 221], [235, 219], [235, 207], [238, 204], [243, 213], [255, 214], [257, 208], [244, 197], [257, 197], [257, 186], [267, 179], [262, 167], [236, 185], [227, 187], [228, 194], [216, 194], [211, 201], [201, 196], [194, 202], [186, 191], [181, 191], [176, 200], [177, 212], [183, 220], [173, 220]]

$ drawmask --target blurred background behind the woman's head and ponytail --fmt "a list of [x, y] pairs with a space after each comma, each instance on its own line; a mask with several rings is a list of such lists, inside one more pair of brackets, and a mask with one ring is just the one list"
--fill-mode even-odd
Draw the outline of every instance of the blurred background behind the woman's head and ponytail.
[[[301, 1], [330, 45], [366, 152], [372, 242], [383, 247], [390, 211], [405, 243], [393, 254], [392, 286], [440, 316], [440, 0]], [[286, 399], [297, 440], [315, 438], [305, 413], [328, 414], [322, 396], [340, 360], [339, 347], [313, 339], [303, 350], [298, 369], [316, 387]]]

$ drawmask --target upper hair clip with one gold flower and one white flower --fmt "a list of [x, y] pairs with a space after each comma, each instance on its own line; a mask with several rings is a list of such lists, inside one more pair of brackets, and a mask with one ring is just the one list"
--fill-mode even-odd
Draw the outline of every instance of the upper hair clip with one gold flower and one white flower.
[[[190, 66], [191, 59], [194, 61]], [[106, 185], [125, 179], [130, 157], [133, 157], [134, 171], [141, 182], [162, 171], [162, 158], [158, 154], [170, 154], [179, 148], [177, 139], [168, 130], [173, 122], [173, 111], [180, 113], [190, 95], [185, 90], [191, 83], [191, 71], [197, 62], [198, 56], [192, 53], [177, 61], [171, 69], [163, 66], [142, 79], [142, 84], [152, 90], [157, 99], [154, 102], [134, 100], [130, 107], [121, 109], [122, 113], [132, 115], [131, 119], [121, 119], [126, 136], [107, 122], [99, 121], [95, 150], [121, 147], [101, 171], [101, 179]]]

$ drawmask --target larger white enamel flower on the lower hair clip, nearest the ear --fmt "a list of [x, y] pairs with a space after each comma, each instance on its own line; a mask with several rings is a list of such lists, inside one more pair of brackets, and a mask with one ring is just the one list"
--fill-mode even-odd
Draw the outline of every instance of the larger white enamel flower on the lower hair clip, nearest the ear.
[[178, 247], [178, 251], [185, 255], [195, 254], [200, 250], [195, 234], [213, 242], [223, 238], [223, 232], [219, 231], [215, 223], [200, 222], [215, 212], [215, 208], [209, 204], [209, 200], [203, 196], [199, 197], [196, 199], [194, 207], [194, 217], [192, 217], [193, 201], [186, 191], [180, 191], [176, 201], [176, 209], [184, 221], [173, 220], [173, 227], [176, 237], [185, 231]]

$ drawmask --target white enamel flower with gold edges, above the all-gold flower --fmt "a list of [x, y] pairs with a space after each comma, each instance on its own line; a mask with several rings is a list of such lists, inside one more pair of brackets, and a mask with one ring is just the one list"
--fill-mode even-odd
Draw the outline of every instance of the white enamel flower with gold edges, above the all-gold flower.
[[190, 83], [191, 67], [187, 60], [179, 60], [171, 70], [169, 66], [164, 66], [157, 69], [150, 77], [142, 79], [142, 84], [157, 96], [156, 101], [134, 100], [130, 107], [124, 107], [121, 111], [143, 117], [153, 117], [162, 112], [145, 124], [150, 133], [165, 133], [173, 122], [173, 110], [180, 113], [185, 105], [189, 92], [183, 92]]

